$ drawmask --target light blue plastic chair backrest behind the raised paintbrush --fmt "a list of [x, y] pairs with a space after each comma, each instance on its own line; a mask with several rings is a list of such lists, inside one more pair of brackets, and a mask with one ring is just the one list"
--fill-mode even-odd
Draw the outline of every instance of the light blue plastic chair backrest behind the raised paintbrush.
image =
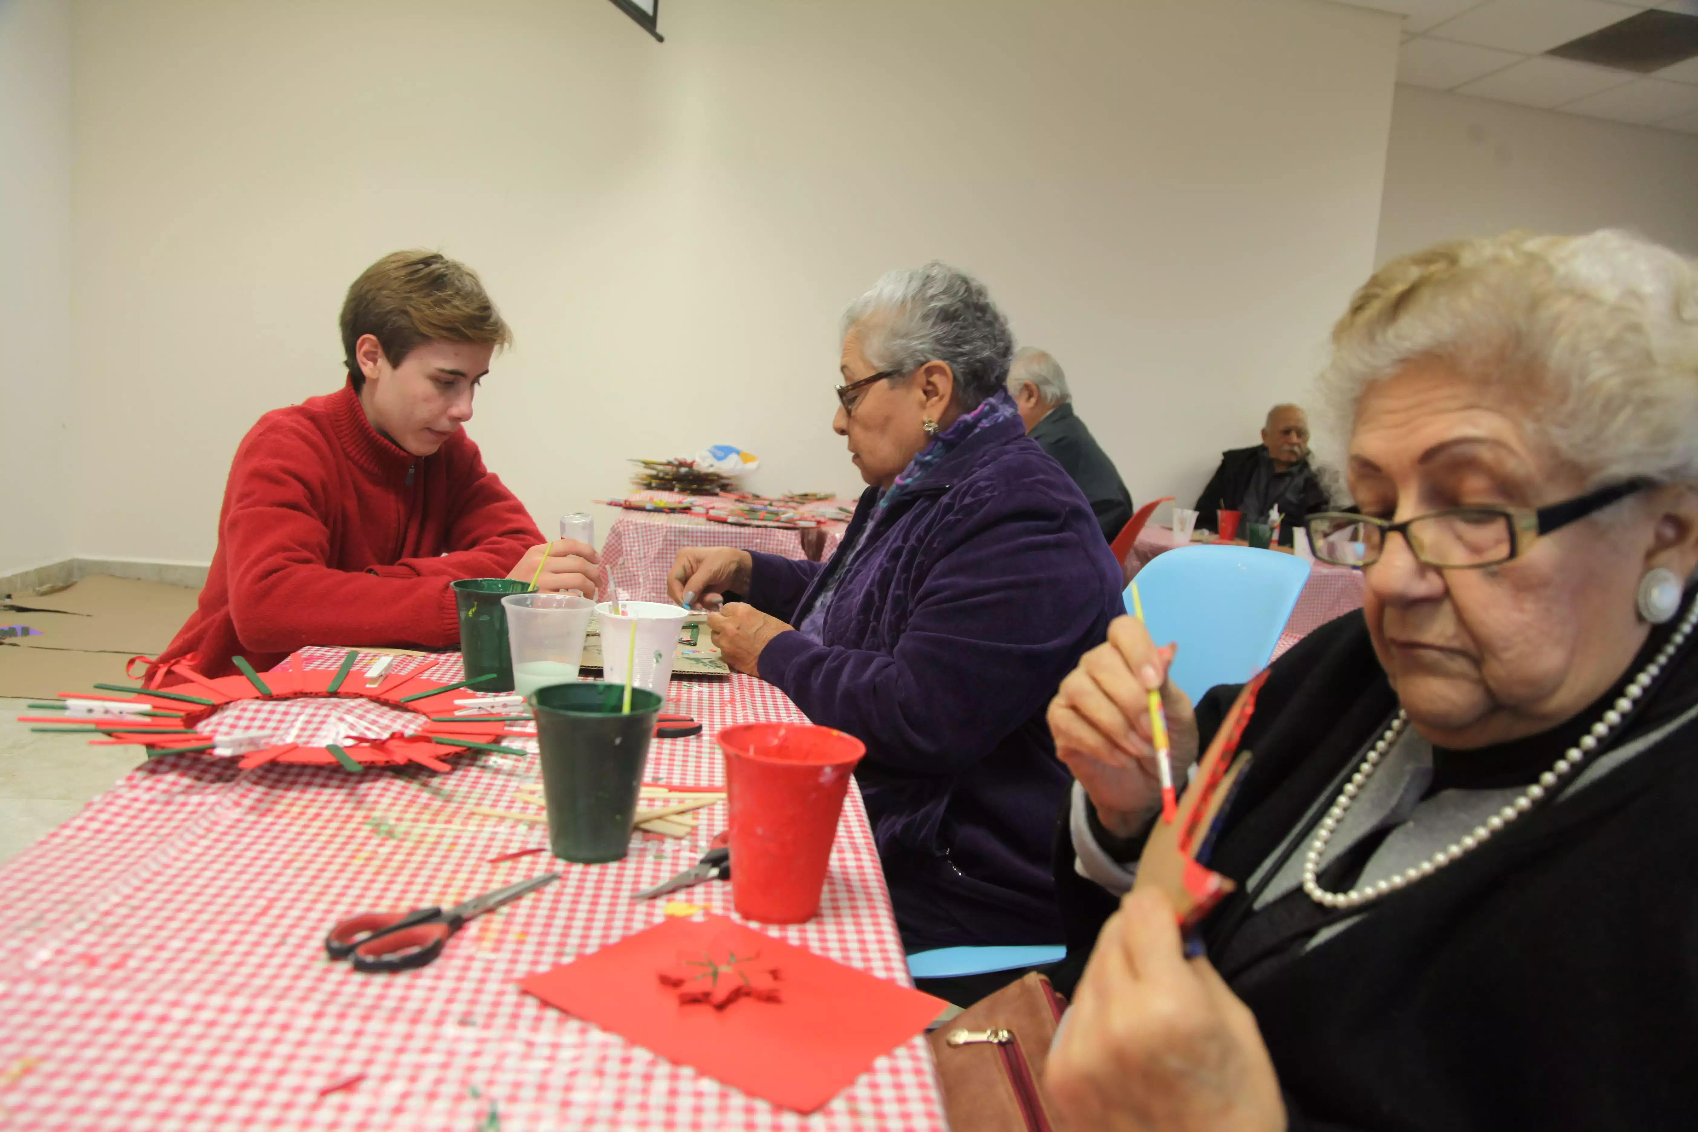
[[[1216, 684], [1255, 675], [1290, 619], [1309, 563], [1253, 546], [1180, 546], [1138, 572], [1144, 621], [1158, 643], [1178, 642], [1170, 677], [1195, 701]], [[1133, 587], [1126, 587], [1133, 611]]]

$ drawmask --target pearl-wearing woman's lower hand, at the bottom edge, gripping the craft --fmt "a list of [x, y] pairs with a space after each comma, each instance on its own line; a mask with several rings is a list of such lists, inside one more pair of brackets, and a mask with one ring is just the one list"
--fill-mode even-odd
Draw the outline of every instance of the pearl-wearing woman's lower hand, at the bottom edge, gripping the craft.
[[1158, 891], [1127, 893], [1104, 925], [1044, 1086], [1071, 1129], [1285, 1129], [1255, 1015], [1207, 959], [1185, 959], [1173, 905]]

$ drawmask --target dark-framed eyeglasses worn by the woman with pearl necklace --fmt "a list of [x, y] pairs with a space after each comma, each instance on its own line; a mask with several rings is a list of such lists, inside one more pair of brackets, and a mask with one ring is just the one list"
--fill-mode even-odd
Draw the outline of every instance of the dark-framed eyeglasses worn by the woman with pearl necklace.
[[1594, 511], [1652, 487], [1656, 480], [1635, 479], [1576, 496], [1549, 507], [1445, 507], [1403, 523], [1367, 514], [1326, 511], [1311, 514], [1309, 546], [1321, 562], [1369, 567], [1386, 550], [1386, 536], [1403, 535], [1416, 560], [1447, 570], [1501, 565], [1527, 553], [1533, 540]]

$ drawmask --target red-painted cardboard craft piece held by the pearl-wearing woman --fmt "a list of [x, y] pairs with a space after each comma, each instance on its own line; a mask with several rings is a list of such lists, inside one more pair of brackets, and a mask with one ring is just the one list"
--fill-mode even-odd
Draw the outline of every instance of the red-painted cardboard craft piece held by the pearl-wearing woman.
[[1200, 864], [1199, 850], [1207, 845], [1214, 820], [1231, 799], [1238, 776], [1250, 764], [1248, 752], [1238, 760], [1233, 755], [1238, 752], [1238, 738], [1250, 723], [1257, 692], [1265, 681], [1267, 669], [1238, 692], [1238, 699], [1214, 731], [1214, 742], [1197, 764], [1190, 787], [1180, 794], [1177, 818], [1156, 821], [1138, 857], [1133, 888], [1153, 888], [1163, 893], [1178, 913], [1180, 928], [1195, 927], [1221, 898], [1238, 888], [1231, 877]]

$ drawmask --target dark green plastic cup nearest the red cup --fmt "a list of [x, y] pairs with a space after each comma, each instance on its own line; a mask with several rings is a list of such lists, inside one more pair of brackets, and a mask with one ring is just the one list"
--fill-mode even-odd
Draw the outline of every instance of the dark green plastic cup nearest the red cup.
[[649, 740], [662, 699], [623, 684], [548, 684], [530, 706], [542, 748], [542, 794], [548, 806], [548, 850], [560, 860], [621, 860], [649, 764]]

